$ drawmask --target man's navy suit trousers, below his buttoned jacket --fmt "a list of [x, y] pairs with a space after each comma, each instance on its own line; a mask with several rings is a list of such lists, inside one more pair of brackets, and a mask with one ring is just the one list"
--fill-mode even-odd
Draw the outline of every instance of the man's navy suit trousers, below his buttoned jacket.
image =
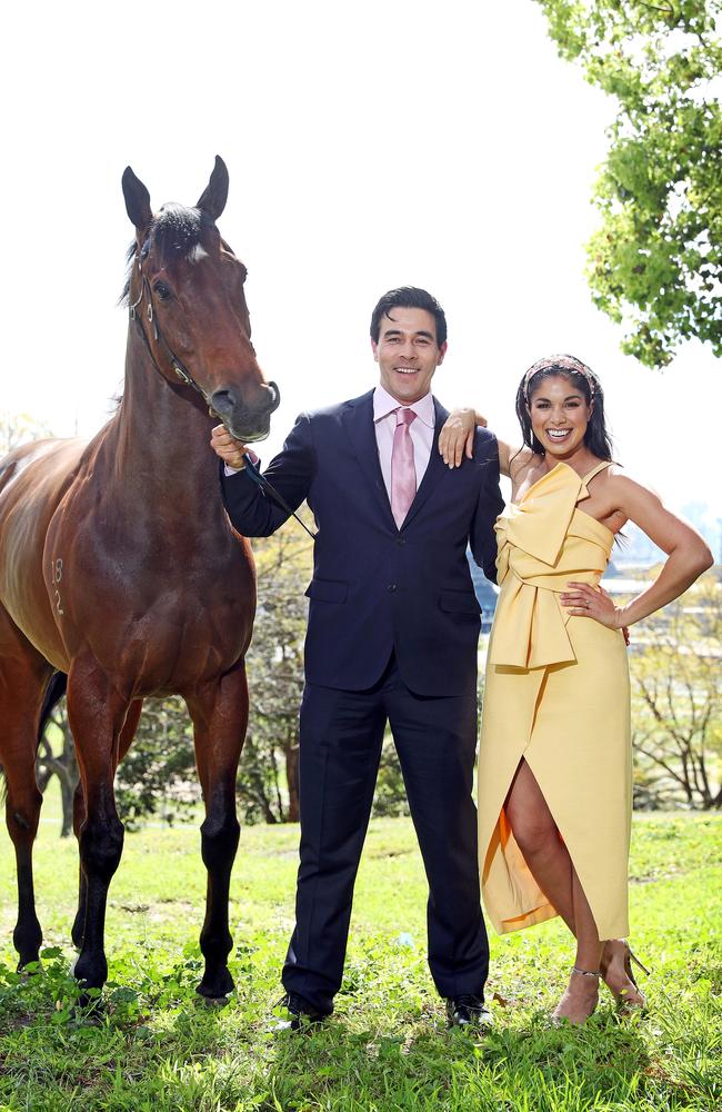
[[442, 996], [483, 994], [489, 970], [471, 795], [477, 701], [415, 695], [392, 658], [368, 691], [307, 684], [301, 704], [301, 863], [283, 985], [322, 1013], [341, 986], [387, 722], [429, 881], [434, 984]]

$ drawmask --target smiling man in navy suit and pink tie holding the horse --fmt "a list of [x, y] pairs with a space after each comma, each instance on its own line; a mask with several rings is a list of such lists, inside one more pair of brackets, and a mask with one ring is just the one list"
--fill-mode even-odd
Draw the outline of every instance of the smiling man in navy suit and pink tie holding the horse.
[[[302, 414], [264, 477], [318, 538], [300, 718], [301, 846], [297, 922], [283, 967], [291, 1025], [333, 1010], [353, 884], [381, 744], [391, 726], [429, 881], [429, 965], [453, 1024], [488, 1022], [475, 807], [479, 604], [467, 546], [493, 577], [495, 438], [444, 466], [448, 413], [431, 380], [447, 321], [425, 290], [391, 290], [371, 319], [374, 390]], [[234, 527], [269, 536], [288, 518], [243, 474], [245, 448], [219, 426], [223, 497]], [[233, 474], [233, 468], [240, 470]]]

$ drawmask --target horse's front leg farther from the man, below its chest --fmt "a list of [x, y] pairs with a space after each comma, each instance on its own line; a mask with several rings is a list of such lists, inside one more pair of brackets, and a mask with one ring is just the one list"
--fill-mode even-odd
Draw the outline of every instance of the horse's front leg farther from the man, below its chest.
[[108, 888], [120, 864], [123, 824], [116, 810], [113, 777], [130, 699], [122, 696], [92, 659], [73, 662], [68, 676], [68, 721], [84, 796], [80, 865], [84, 878], [84, 929], [76, 977], [101, 989], [108, 977], [104, 950]]

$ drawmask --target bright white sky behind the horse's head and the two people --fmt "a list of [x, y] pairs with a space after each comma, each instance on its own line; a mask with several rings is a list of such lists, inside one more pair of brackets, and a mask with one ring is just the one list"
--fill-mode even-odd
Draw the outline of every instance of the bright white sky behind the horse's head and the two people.
[[154, 207], [193, 203], [218, 152], [220, 227], [283, 397], [264, 458], [299, 410], [373, 385], [371, 309], [412, 284], [449, 318], [445, 405], [513, 439], [524, 369], [572, 351], [602, 379], [630, 474], [722, 513], [711, 353], [641, 368], [591, 304], [613, 107], [556, 57], [532, 0], [69, 0], [3, 24], [2, 409], [58, 435], [103, 423], [123, 370], [123, 168]]

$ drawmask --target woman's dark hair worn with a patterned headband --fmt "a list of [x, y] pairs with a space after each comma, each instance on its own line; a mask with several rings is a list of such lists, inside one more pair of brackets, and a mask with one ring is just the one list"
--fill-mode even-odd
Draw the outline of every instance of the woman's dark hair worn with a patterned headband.
[[552, 355], [546, 359], [538, 359], [529, 368], [517, 390], [517, 416], [521, 425], [524, 444], [538, 455], [544, 455], [544, 446], [540, 444], [531, 427], [529, 406], [532, 394], [545, 378], [559, 376], [569, 379], [584, 395], [586, 405], [591, 406], [592, 415], [584, 433], [584, 445], [598, 459], [612, 458], [612, 438], [606, 431], [604, 421], [604, 391], [596, 375], [585, 363], [573, 355]]

